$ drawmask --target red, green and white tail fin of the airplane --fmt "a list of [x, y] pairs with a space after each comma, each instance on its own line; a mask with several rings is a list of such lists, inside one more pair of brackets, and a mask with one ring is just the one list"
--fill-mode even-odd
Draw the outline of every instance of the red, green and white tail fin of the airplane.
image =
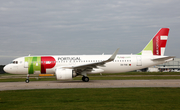
[[161, 28], [138, 55], [164, 55], [169, 28]]

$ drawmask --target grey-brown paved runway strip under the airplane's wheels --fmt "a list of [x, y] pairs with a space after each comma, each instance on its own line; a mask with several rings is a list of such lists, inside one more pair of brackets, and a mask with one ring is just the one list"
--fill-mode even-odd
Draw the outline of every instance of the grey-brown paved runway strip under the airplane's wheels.
[[180, 80], [91, 80], [1, 82], [0, 91], [64, 88], [128, 88], [128, 87], [180, 87]]

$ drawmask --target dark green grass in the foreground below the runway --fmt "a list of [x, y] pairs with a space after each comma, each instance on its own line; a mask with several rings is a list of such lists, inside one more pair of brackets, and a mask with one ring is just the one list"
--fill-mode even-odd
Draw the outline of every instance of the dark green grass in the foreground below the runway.
[[178, 110], [180, 88], [0, 91], [0, 110]]

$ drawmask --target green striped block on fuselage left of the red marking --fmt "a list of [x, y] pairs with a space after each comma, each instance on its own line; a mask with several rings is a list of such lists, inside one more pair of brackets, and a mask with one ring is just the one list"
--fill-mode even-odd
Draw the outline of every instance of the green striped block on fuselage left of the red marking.
[[34, 71], [41, 71], [41, 57], [25, 57], [28, 62], [28, 73], [33, 74]]

